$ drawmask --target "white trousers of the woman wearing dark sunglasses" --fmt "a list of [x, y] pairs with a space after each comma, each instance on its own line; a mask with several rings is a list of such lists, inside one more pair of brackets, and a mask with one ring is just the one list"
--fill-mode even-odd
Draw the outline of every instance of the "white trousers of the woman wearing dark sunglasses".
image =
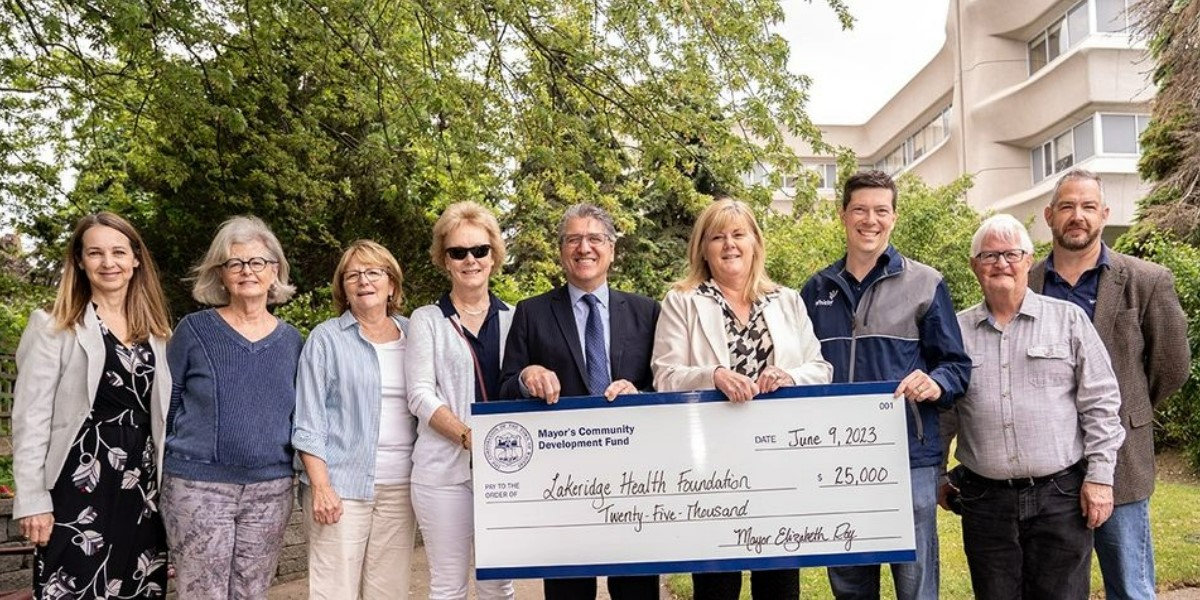
[[[466, 600], [475, 542], [470, 481], [413, 484], [413, 508], [430, 559], [430, 600]], [[479, 600], [512, 600], [512, 580], [476, 581]]]

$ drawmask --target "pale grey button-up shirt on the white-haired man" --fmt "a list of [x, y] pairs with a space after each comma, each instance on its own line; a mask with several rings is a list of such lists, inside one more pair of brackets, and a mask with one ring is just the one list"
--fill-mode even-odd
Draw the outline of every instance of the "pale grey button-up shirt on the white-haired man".
[[986, 306], [959, 313], [971, 385], [955, 404], [955, 456], [989, 479], [1044, 476], [1087, 460], [1087, 481], [1112, 484], [1124, 430], [1121, 395], [1099, 335], [1078, 306], [1026, 290], [1000, 329]]

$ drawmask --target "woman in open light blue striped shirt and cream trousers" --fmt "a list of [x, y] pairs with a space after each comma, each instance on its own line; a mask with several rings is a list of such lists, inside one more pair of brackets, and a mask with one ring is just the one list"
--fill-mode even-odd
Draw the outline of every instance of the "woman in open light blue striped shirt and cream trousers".
[[342, 314], [313, 329], [300, 356], [292, 445], [304, 463], [313, 599], [408, 596], [416, 420], [406, 397], [402, 282], [386, 248], [350, 245], [334, 271]]

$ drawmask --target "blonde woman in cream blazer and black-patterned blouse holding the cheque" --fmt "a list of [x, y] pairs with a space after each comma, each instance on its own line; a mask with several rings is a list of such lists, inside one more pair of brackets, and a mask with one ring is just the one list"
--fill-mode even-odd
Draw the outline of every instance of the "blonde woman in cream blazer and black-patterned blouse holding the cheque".
[[[654, 336], [658, 391], [718, 389], [733, 402], [797, 384], [829, 383], [833, 367], [799, 293], [767, 276], [762, 230], [745, 203], [714, 200], [688, 244], [688, 276], [662, 300]], [[696, 600], [737, 599], [740, 572], [694, 574]], [[754, 598], [798, 599], [796, 569], [754, 571]]]

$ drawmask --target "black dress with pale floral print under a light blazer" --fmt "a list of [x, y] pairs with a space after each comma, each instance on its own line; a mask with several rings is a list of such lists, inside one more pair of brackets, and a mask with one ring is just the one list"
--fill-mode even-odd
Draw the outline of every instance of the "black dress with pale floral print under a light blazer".
[[163, 598], [167, 538], [158, 515], [149, 343], [124, 346], [101, 323], [104, 372], [91, 415], [50, 491], [54, 529], [37, 550], [38, 599]]

